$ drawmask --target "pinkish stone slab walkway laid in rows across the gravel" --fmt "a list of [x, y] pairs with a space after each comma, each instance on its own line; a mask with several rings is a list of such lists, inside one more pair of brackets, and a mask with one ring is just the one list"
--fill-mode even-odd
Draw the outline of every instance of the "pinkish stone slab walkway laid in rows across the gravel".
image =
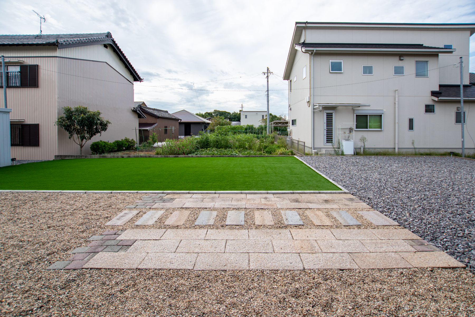
[[[222, 225], [230, 229], [206, 229], [207, 225], [215, 224], [217, 217], [217, 211], [209, 208], [218, 207], [228, 208]], [[398, 223], [350, 194], [150, 194], [135, 205], [128, 205], [106, 225], [114, 228], [126, 224], [139, 213], [139, 208], [152, 208], [133, 223], [145, 229], [104, 231], [90, 237], [86, 247], [71, 250], [73, 255], [69, 259], [58, 261], [48, 269], [465, 267], [409, 230], [383, 229]], [[202, 209], [193, 218], [199, 229], [147, 229], [170, 208], [178, 210], [168, 213], [165, 226], [180, 226], [189, 219], [189, 209]], [[251, 208], [255, 210], [247, 211]], [[288, 229], [234, 229], [244, 225], [245, 214], [249, 212], [254, 213], [255, 225], [273, 226], [276, 218], [266, 210], [270, 208], [281, 209], [279, 217]], [[318, 226], [340, 223], [347, 228], [361, 228], [361, 222], [347, 211], [333, 210], [329, 216], [319, 210], [343, 208], [352, 208], [352, 212], [356, 209], [381, 229], [295, 229], [304, 222], [292, 209], [305, 209], [308, 218]]]

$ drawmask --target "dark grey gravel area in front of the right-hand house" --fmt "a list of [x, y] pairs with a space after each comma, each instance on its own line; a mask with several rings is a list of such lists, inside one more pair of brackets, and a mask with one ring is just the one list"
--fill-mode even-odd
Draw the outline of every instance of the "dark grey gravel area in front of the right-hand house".
[[361, 201], [475, 270], [475, 161], [302, 156]]

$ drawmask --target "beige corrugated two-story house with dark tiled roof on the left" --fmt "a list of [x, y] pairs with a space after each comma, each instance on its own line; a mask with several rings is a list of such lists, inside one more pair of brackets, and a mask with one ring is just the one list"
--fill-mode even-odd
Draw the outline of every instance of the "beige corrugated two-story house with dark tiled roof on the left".
[[111, 122], [85, 145], [83, 154], [90, 154], [89, 145], [98, 140], [135, 139], [138, 118], [130, 109], [133, 83], [142, 78], [110, 32], [0, 35], [0, 55], [6, 59], [7, 106], [12, 109], [12, 158], [79, 154], [79, 146], [54, 125], [64, 106], [99, 110]]

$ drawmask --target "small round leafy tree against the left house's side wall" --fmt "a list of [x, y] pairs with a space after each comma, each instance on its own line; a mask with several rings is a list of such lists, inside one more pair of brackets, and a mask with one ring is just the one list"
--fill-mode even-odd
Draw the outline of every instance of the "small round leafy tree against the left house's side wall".
[[69, 138], [79, 145], [81, 155], [85, 143], [96, 134], [106, 131], [110, 124], [110, 121], [101, 117], [99, 110], [91, 111], [85, 106], [63, 107], [63, 115], [55, 122], [55, 125], [65, 129]]

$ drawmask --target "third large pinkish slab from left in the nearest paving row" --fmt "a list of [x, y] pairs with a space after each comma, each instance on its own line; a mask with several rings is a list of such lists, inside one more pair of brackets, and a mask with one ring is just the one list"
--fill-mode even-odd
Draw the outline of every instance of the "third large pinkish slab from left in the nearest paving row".
[[195, 268], [199, 270], [247, 270], [248, 253], [199, 253]]

